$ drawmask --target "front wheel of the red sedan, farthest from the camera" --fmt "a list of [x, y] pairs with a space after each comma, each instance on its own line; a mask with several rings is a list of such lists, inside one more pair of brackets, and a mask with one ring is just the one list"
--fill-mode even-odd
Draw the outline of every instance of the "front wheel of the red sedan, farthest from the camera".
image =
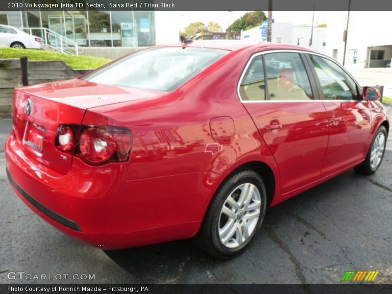
[[381, 125], [374, 134], [366, 159], [354, 170], [364, 174], [374, 174], [381, 165], [387, 143], [387, 129]]

